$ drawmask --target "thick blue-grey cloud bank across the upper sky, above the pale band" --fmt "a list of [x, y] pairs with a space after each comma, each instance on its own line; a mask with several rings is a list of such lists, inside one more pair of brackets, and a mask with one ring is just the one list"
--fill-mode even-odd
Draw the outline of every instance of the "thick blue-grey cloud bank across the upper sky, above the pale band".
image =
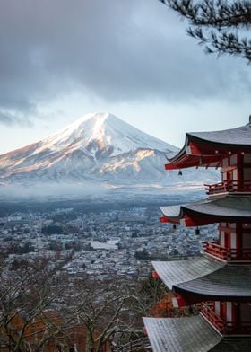
[[247, 66], [205, 56], [185, 27], [157, 0], [1, 1], [0, 110], [19, 114], [0, 122], [71, 92], [110, 102], [245, 96]]

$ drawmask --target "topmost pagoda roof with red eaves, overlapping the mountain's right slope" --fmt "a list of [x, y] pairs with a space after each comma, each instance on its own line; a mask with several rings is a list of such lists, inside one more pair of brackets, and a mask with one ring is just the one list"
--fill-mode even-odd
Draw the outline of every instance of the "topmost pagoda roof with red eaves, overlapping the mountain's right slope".
[[166, 169], [218, 167], [222, 159], [236, 153], [251, 153], [251, 122], [222, 131], [186, 133], [185, 145], [177, 154], [169, 155]]

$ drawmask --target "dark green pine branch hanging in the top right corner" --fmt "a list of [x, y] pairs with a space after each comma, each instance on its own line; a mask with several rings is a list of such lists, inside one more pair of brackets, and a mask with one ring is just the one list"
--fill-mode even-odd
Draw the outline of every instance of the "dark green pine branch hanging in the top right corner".
[[[205, 45], [208, 54], [229, 54], [251, 62], [251, 40], [240, 37], [239, 30], [251, 27], [251, 2], [237, 0], [159, 0], [185, 17], [187, 33]], [[247, 32], [248, 34], [248, 32]]]

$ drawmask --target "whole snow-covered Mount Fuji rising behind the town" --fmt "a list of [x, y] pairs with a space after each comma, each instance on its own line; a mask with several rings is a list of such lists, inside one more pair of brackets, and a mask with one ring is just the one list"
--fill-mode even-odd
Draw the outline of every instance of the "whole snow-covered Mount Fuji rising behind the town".
[[177, 147], [162, 142], [109, 113], [87, 114], [38, 143], [0, 155], [2, 185], [64, 182], [107, 185], [203, 184], [214, 172], [187, 170], [182, 180], [166, 172]]

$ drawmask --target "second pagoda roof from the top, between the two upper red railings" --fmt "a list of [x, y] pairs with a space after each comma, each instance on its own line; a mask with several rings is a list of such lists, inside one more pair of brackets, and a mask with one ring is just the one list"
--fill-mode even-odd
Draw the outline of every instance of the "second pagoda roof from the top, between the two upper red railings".
[[[160, 207], [163, 216], [177, 223], [185, 219], [186, 226], [208, 224], [217, 220], [251, 221], [251, 197], [228, 195], [221, 198], [207, 198], [181, 206]], [[187, 221], [190, 219], [190, 221]]]

